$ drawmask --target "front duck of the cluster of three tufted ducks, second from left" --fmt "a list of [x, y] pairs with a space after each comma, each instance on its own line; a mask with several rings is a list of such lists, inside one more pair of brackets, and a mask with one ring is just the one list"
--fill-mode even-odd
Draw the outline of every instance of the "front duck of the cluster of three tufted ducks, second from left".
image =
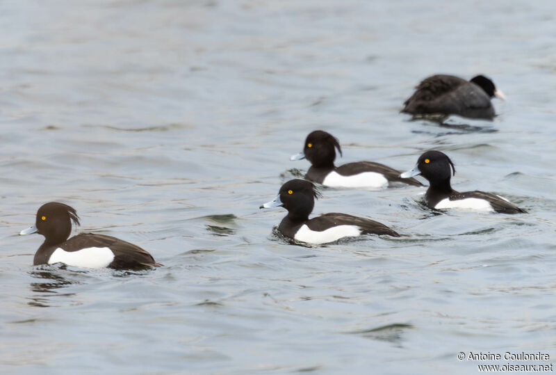
[[363, 234], [388, 234], [392, 237], [400, 237], [400, 234], [386, 225], [368, 218], [331, 213], [309, 219], [309, 214], [315, 205], [315, 198], [318, 196], [311, 182], [304, 179], [291, 179], [281, 186], [274, 200], [259, 208], [287, 209], [288, 214], [278, 226], [279, 232], [306, 244], [327, 244], [344, 237], [359, 237]]

